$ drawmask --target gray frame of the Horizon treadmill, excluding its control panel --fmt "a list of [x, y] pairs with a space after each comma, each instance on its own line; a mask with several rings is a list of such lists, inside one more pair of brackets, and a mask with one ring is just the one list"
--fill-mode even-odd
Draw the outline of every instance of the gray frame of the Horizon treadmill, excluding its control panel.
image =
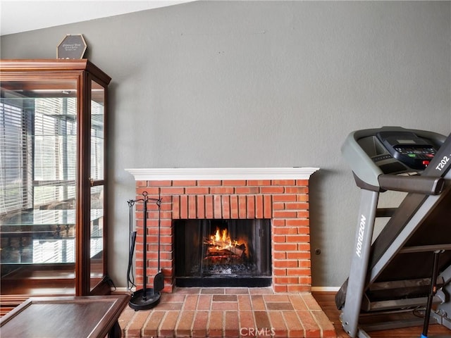
[[[376, 134], [376, 132], [381, 132], [385, 130], [390, 131], [407, 131], [414, 132], [419, 137], [426, 137], [428, 139], [433, 139], [434, 142], [438, 144], [443, 144], [440, 146], [437, 154], [431, 161], [428, 168], [425, 170], [425, 174], [431, 177], [444, 177], [447, 187], [445, 187], [444, 194], [439, 195], [428, 195], [424, 202], [419, 206], [419, 208], [414, 212], [412, 218], [410, 218], [402, 228], [400, 234], [396, 239], [390, 244], [388, 249], [383, 253], [381, 258], [376, 262], [375, 265], [369, 270], [369, 257], [371, 253], [371, 240], [373, 238], [374, 224], [377, 214], [377, 205], [379, 192], [385, 191], [382, 189], [378, 177], [383, 175], [383, 172], [378, 165], [376, 165], [369, 155], [359, 146], [358, 141], [364, 137], [371, 137]], [[445, 142], [447, 141], [447, 142]], [[350, 335], [350, 337], [370, 337], [362, 327], [359, 327], [359, 317], [362, 309], [362, 300], [365, 290], [371, 285], [378, 275], [383, 271], [383, 269], [390, 263], [391, 259], [397, 253], [400, 253], [403, 249], [404, 244], [407, 242], [409, 237], [416, 231], [416, 229], [421, 225], [422, 220], [424, 220], [433, 207], [438, 204], [438, 202], [443, 199], [443, 196], [450, 192], [450, 179], [451, 179], [451, 135], [445, 137], [443, 135], [426, 132], [423, 130], [407, 130], [402, 127], [383, 127], [378, 129], [370, 130], [359, 130], [352, 132], [347, 139], [345, 144], [342, 146], [342, 154], [348, 163], [352, 163], [352, 171], [355, 176], [368, 184], [367, 189], [362, 189], [361, 192], [361, 203], [359, 208], [359, 218], [357, 220], [357, 231], [354, 238], [354, 251], [352, 255], [350, 275], [347, 280], [347, 290], [352, 290], [352, 292], [346, 292], [345, 306], [342, 308], [342, 314], [340, 315], [340, 320], [342, 320], [342, 327]], [[435, 163], [439, 163], [443, 156], [448, 156], [450, 158], [443, 168], [438, 170], [438, 166], [435, 168]], [[412, 170], [414, 171], [414, 170]], [[421, 176], [419, 176], [421, 177]], [[363, 230], [362, 230], [362, 217], [365, 218]], [[436, 249], [449, 249], [438, 247], [428, 247], [421, 249], [410, 248], [410, 250], [436, 250]], [[447, 268], [440, 276], [446, 283], [445, 289], [447, 292], [451, 292], [450, 280], [451, 280], [451, 268]], [[448, 293], [450, 294], [450, 293]], [[426, 303], [424, 299], [416, 299], [412, 302]], [[451, 304], [449, 301], [445, 302], [444, 299], [436, 299], [435, 301], [441, 301], [442, 303], [438, 306], [438, 311], [431, 314], [431, 318], [435, 320], [435, 323], [440, 323], [450, 328], [451, 321], [447, 318], [447, 313], [451, 313]], [[405, 302], [393, 301], [392, 307], [405, 306]], [[397, 304], [398, 303], [398, 304]], [[414, 304], [409, 304], [414, 305]], [[443, 315], [443, 312], [445, 315]], [[418, 322], [414, 323], [390, 323], [390, 328], [394, 327], [405, 327], [409, 325], [419, 325]], [[374, 326], [372, 330], [382, 330], [388, 327], [387, 324], [381, 324], [379, 326]], [[358, 336], [357, 336], [358, 335]]]

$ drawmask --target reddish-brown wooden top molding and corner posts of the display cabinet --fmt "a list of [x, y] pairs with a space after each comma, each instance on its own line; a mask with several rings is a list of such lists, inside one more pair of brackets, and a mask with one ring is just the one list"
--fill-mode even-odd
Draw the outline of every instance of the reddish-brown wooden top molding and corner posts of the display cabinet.
[[[107, 235], [108, 235], [108, 192], [106, 173], [107, 154], [107, 116], [108, 116], [108, 85], [111, 77], [87, 59], [80, 60], [1, 60], [0, 83], [1, 86], [9, 83], [20, 83], [23, 91], [27, 89], [73, 89], [76, 82], [77, 100], [77, 155], [76, 155], [76, 205], [75, 205], [75, 296], [94, 294], [108, 294], [110, 285], [107, 281]], [[54, 82], [54, 88], [49, 88], [49, 82]], [[104, 165], [101, 180], [93, 180], [90, 177], [91, 158], [91, 101], [97, 99], [92, 94], [92, 84], [96, 83], [103, 102], [104, 118]], [[18, 89], [18, 88], [7, 88]], [[91, 257], [90, 251], [90, 204], [91, 187], [103, 186], [103, 253], [102, 270], [103, 278], [92, 285], [90, 275]], [[27, 286], [25, 286], [27, 284]], [[22, 294], [32, 293], [32, 282], [24, 283]], [[3, 293], [3, 292], [2, 292]], [[49, 293], [51, 294], [51, 292]], [[58, 294], [58, 292], [56, 292]], [[70, 294], [66, 293], [66, 294]]]

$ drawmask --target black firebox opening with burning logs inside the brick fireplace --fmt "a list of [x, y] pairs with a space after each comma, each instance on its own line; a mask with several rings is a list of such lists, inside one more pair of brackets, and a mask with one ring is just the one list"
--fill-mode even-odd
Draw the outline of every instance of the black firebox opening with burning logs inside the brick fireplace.
[[175, 285], [271, 285], [271, 220], [174, 220]]

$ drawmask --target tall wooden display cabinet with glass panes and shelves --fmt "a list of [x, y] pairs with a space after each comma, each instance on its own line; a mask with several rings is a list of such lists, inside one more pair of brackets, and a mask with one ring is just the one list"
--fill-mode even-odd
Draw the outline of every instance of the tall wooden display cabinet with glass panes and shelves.
[[109, 294], [106, 106], [82, 60], [0, 61], [1, 294]]

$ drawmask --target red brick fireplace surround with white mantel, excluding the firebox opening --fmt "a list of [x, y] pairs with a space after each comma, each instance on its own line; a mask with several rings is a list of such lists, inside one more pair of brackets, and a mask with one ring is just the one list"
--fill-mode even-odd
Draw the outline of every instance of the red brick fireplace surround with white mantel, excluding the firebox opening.
[[[310, 292], [309, 177], [319, 168], [167, 168], [127, 169], [136, 197], [161, 198], [147, 213], [147, 285], [157, 271], [161, 224], [163, 292], [175, 285], [174, 220], [271, 220], [274, 292]], [[136, 284], [143, 284], [143, 206], [136, 204]]]

